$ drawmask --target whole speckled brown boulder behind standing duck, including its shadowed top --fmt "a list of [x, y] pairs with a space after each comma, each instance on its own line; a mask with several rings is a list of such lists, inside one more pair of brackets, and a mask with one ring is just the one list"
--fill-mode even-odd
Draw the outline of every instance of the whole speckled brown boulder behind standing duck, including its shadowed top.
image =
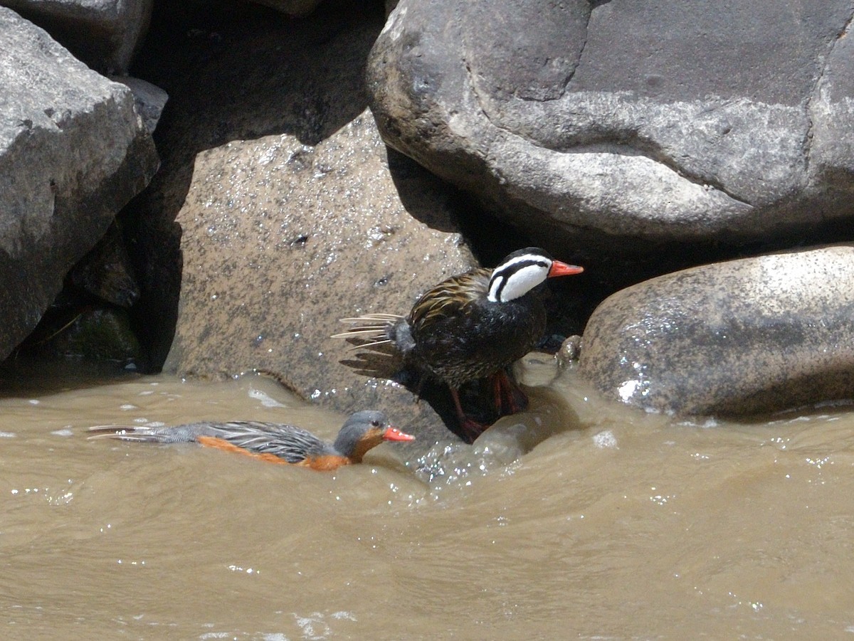
[[[157, 130], [163, 168], [131, 234], [151, 252], [141, 326], [176, 318], [166, 371], [267, 370], [342, 412], [381, 407], [424, 450], [431, 435], [451, 435], [431, 405], [360, 373], [361, 352], [330, 338], [346, 329], [339, 318], [407, 312], [425, 288], [474, 263], [447, 185], [401, 154], [387, 157], [366, 111], [364, 64], [382, 13], [366, 20], [345, 2], [306, 20], [255, 15], [216, 22], [218, 38], [182, 64], [190, 78], [151, 77], [170, 102]], [[207, 24], [190, 22], [202, 34]], [[197, 41], [178, 44], [192, 52]], [[394, 366], [374, 364], [383, 374]]]

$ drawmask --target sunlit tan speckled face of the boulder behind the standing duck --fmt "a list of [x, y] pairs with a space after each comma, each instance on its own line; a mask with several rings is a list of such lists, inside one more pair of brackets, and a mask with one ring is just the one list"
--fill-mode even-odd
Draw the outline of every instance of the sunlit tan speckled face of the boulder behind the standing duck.
[[360, 352], [330, 338], [339, 318], [407, 312], [473, 264], [459, 234], [401, 205], [369, 113], [313, 148], [274, 136], [202, 152], [177, 220], [184, 273], [165, 370], [266, 370], [342, 411], [380, 406], [407, 426], [430, 412], [438, 426], [429, 405], [385, 382], [394, 367], [366, 376]]

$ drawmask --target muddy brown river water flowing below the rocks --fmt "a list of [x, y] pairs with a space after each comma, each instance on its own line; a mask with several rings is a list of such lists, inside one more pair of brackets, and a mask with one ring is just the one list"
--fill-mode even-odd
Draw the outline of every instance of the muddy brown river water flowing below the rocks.
[[385, 444], [322, 474], [85, 438], [205, 418], [336, 433], [258, 376], [7, 380], [0, 636], [854, 638], [851, 409], [696, 424], [571, 374], [532, 398], [474, 447]]

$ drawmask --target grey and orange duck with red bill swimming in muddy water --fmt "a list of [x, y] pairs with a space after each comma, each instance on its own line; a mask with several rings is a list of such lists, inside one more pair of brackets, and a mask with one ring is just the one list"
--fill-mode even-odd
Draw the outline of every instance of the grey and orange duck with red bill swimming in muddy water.
[[338, 432], [335, 443], [293, 425], [273, 422], [194, 422], [173, 428], [97, 427], [91, 439], [135, 440], [143, 443], [190, 443], [237, 452], [271, 463], [290, 463], [330, 470], [361, 463], [365, 453], [383, 440], [415, 440], [389, 424], [381, 411], [357, 411]]

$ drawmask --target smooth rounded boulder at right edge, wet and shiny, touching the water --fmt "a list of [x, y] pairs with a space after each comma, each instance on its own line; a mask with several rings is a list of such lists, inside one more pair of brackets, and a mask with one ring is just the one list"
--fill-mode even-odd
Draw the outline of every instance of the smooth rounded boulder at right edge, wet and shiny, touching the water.
[[580, 371], [645, 410], [749, 415], [854, 399], [854, 246], [704, 265], [613, 294]]

